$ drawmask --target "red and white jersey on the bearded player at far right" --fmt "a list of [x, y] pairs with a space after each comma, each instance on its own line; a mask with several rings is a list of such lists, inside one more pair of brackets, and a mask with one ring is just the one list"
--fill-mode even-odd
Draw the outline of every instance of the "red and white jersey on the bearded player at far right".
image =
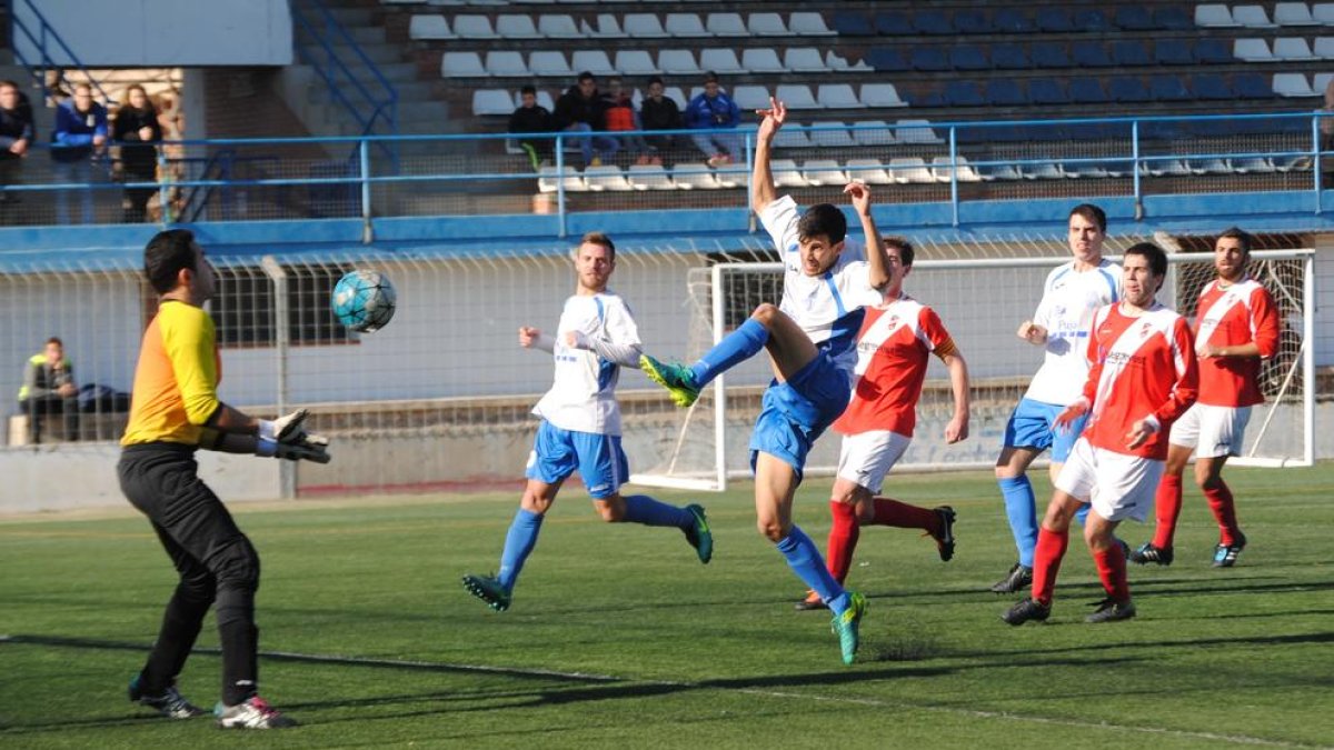
[[1278, 352], [1278, 307], [1269, 290], [1250, 276], [1231, 286], [1218, 279], [1199, 292], [1195, 351], [1206, 346], [1255, 342], [1259, 356], [1210, 356], [1199, 360], [1199, 403], [1253, 406], [1263, 403], [1259, 364]]

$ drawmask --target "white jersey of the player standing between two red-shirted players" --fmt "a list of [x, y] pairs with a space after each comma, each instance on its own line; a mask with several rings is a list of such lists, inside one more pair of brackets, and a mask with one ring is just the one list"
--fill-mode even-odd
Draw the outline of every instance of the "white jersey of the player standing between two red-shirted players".
[[1033, 315], [1033, 322], [1047, 330], [1047, 351], [1025, 398], [1058, 406], [1079, 400], [1089, 379], [1085, 355], [1093, 315], [1121, 296], [1121, 266], [1107, 259], [1087, 271], [1077, 271], [1071, 260], [1047, 274]]

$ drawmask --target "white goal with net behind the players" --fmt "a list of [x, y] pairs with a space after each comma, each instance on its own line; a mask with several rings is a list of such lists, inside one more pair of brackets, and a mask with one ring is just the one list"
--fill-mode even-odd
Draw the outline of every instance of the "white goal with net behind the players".
[[[1314, 463], [1315, 364], [1314, 251], [1255, 251], [1249, 271], [1279, 308], [1279, 352], [1261, 374], [1265, 403], [1251, 412], [1243, 466], [1310, 466]], [[952, 414], [944, 367], [935, 359], [918, 406], [912, 444], [898, 471], [990, 468], [999, 451], [1010, 411], [1042, 362], [1042, 348], [1015, 336], [1031, 318], [1043, 280], [1069, 258], [919, 260], [907, 292], [940, 315], [967, 359], [971, 380], [970, 436], [955, 446], [943, 439]], [[1169, 255], [1169, 276], [1158, 300], [1194, 320], [1199, 290], [1214, 278], [1213, 254]], [[780, 263], [718, 263], [694, 270], [687, 282], [691, 326], [688, 358], [696, 358], [739, 326], [756, 304], [782, 298]], [[750, 476], [747, 442], [772, 374], [756, 356], [706, 388], [679, 414], [668, 450], [656, 466], [632, 482], [688, 490], [720, 491], [728, 479]], [[807, 475], [831, 475], [838, 466], [838, 436], [820, 438], [808, 456]]]

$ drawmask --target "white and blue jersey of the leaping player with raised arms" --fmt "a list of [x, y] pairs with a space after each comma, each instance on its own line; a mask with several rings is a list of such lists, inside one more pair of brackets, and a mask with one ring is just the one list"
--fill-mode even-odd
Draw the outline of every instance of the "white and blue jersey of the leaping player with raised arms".
[[871, 287], [871, 270], [862, 246], [848, 240], [828, 271], [807, 276], [802, 271], [796, 202], [784, 195], [766, 206], [759, 220], [783, 259], [783, 302], [779, 310], [851, 378], [856, 367], [856, 334], [862, 328], [863, 308], [880, 303], [880, 292]]

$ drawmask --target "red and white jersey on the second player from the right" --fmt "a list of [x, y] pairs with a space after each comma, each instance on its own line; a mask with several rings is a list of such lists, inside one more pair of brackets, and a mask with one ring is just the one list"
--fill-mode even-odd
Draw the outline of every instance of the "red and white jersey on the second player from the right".
[[[1186, 319], [1158, 303], [1134, 318], [1109, 304], [1094, 314], [1089, 362], [1083, 395], [1093, 414], [1083, 436], [1118, 454], [1166, 459], [1171, 423], [1195, 403], [1199, 384]], [[1127, 448], [1130, 426], [1150, 415], [1158, 431]]]

